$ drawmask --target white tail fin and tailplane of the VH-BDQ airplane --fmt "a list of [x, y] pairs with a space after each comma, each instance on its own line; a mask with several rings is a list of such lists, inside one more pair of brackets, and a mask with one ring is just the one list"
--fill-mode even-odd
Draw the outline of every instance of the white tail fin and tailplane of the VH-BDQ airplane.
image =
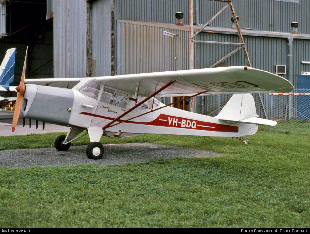
[[256, 114], [255, 101], [251, 94], [232, 95], [216, 118], [236, 124], [262, 124], [269, 126], [277, 124], [276, 121], [259, 118]]

